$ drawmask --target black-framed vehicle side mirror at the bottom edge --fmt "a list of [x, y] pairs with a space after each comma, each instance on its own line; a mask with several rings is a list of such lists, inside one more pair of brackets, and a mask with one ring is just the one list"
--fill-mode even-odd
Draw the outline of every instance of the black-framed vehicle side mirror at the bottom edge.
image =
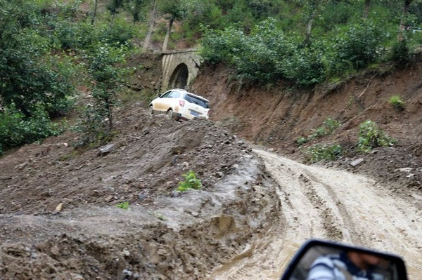
[[281, 280], [320, 279], [407, 280], [407, 272], [397, 255], [310, 240], [293, 257]]

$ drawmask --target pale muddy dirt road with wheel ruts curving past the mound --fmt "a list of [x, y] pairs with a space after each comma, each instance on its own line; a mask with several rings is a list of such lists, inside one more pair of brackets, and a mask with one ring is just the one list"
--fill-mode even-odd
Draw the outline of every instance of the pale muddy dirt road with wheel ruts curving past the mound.
[[402, 255], [409, 279], [420, 279], [420, 207], [360, 175], [306, 166], [260, 149], [254, 152], [276, 180], [284, 222], [250, 244], [249, 252], [216, 269], [212, 279], [278, 279], [300, 244], [310, 238]]

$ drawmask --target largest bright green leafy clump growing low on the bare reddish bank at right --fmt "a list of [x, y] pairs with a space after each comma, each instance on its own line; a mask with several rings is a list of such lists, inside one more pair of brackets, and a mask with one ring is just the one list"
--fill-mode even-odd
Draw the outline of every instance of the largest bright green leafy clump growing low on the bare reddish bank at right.
[[397, 140], [390, 138], [371, 120], [364, 121], [359, 125], [357, 149], [361, 152], [370, 152], [375, 147], [391, 146], [396, 142]]

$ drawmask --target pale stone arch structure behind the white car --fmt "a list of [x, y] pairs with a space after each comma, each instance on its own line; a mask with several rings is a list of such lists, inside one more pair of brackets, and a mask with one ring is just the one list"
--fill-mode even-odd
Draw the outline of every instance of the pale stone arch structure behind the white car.
[[200, 62], [200, 56], [193, 48], [163, 52], [161, 91], [186, 88], [198, 75]]

